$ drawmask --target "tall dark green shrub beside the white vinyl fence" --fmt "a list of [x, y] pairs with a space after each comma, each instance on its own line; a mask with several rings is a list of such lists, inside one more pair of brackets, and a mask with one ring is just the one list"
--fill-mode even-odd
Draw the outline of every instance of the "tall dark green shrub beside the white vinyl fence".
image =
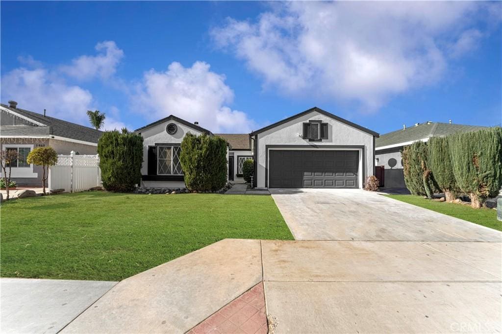
[[103, 188], [129, 192], [141, 181], [143, 137], [133, 132], [106, 131], [97, 143]]

